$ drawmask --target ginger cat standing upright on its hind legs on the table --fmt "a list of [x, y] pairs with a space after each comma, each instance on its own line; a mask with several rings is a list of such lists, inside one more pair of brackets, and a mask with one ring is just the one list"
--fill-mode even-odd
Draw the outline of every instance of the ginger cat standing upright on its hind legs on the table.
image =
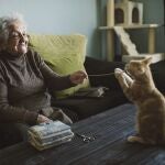
[[127, 98], [138, 108], [138, 134], [129, 136], [128, 141], [165, 144], [165, 98], [155, 87], [151, 62], [151, 57], [131, 61], [124, 70], [116, 68], [114, 75]]

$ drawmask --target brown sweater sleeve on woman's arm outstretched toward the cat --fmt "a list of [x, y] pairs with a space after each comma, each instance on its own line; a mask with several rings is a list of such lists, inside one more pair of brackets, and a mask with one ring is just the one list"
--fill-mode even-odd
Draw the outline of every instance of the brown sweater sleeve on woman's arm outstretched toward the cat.
[[63, 90], [76, 86], [70, 81], [69, 79], [70, 75], [59, 76], [45, 64], [45, 62], [37, 53], [35, 54], [35, 59], [37, 61], [40, 70], [48, 88], [54, 90]]

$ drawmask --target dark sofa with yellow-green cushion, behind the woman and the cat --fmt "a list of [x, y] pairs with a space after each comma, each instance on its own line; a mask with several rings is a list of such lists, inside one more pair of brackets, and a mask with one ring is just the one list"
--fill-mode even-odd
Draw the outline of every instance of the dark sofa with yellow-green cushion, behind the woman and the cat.
[[[53, 37], [55, 37], [55, 40]], [[43, 58], [45, 59], [45, 62], [50, 65], [50, 67], [52, 67], [52, 69], [56, 69], [58, 74], [65, 75], [69, 74], [69, 72], [70, 73], [75, 72], [76, 69], [84, 69], [85, 72], [87, 72], [88, 75], [110, 74], [114, 72], [114, 68], [117, 67], [123, 68], [125, 65], [122, 62], [103, 62], [90, 56], [86, 56], [87, 40], [82, 35], [77, 34], [66, 36], [56, 35], [53, 37], [52, 35], [32, 34], [32, 38], [34, 41], [32, 41], [30, 46], [36, 50], [41, 55], [44, 54]], [[52, 52], [53, 47], [50, 47], [48, 51], [45, 51], [47, 48], [47, 44], [53, 46], [55, 44], [55, 46], [58, 47], [54, 50], [57, 52], [57, 54], [55, 53], [48, 54], [50, 52]], [[65, 45], [67, 48], [66, 47], [64, 48]], [[43, 46], [45, 47], [43, 48]], [[76, 50], [74, 47], [76, 47]], [[61, 52], [61, 50], [63, 51]], [[76, 54], [78, 54], [78, 57], [76, 57]], [[64, 65], [61, 64], [63, 63], [63, 61], [62, 58], [51, 59], [52, 56], [54, 55], [61, 56], [62, 58], [65, 57], [65, 55], [70, 56], [70, 59], [67, 58], [64, 61], [65, 64], [70, 65], [70, 68], [65, 68], [65, 72], [62, 70], [64, 68]], [[55, 62], [55, 64], [53, 62]], [[77, 65], [77, 68], [74, 67], [75, 65], [73, 64]], [[157, 88], [165, 94], [165, 74], [164, 74], [165, 61], [153, 64], [151, 67]], [[90, 97], [76, 97], [74, 95], [81, 88], [100, 87], [100, 86], [108, 88], [103, 97], [90, 98]], [[128, 99], [124, 97], [113, 74], [98, 77], [89, 76], [88, 80], [84, 85], [74, 88], [74, 90], [72, 89], [62, 92], [58, 91], [57, 94], [56, 91], [51, 92], [53, 95], [52, 100], [53, 106], [75, 111], [78, 114], [79, 120], [82, 120], [90, 116], [95, 116], [113, 107], [128, 102]], [[22, 139], [19, 136], [15, 130], [7, 131], [0, 127], [0, 131], [1, 131], [0, 147], [6, 147], [8, 145], [12, 145], [14, 143], [22, 141]]]

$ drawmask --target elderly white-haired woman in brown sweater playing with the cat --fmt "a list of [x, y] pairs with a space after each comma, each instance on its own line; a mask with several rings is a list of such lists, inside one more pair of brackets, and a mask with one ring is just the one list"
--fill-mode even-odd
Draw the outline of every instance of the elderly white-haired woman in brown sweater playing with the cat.
[[0, 122], [14, 125], [24, 139], [29, 125], [51, 119], [72, 123], [62, 110], [51, 107], [48, 90], [76, 86], [87, 77], [81, 70], [57, 75], [28, 45], [23, 19], [0, 18]]

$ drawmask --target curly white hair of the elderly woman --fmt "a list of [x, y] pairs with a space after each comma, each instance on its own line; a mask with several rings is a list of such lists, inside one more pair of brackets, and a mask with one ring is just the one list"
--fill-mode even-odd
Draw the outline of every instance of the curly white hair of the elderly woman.
[[21, 23], [26, 30], [26, 23], [23, 20], [23, 15], [20, 13], [13, 13], [11, 15], [0, 18], [0, 41], [7, 42], [9, 37], [9, 26], [13, 23]]

